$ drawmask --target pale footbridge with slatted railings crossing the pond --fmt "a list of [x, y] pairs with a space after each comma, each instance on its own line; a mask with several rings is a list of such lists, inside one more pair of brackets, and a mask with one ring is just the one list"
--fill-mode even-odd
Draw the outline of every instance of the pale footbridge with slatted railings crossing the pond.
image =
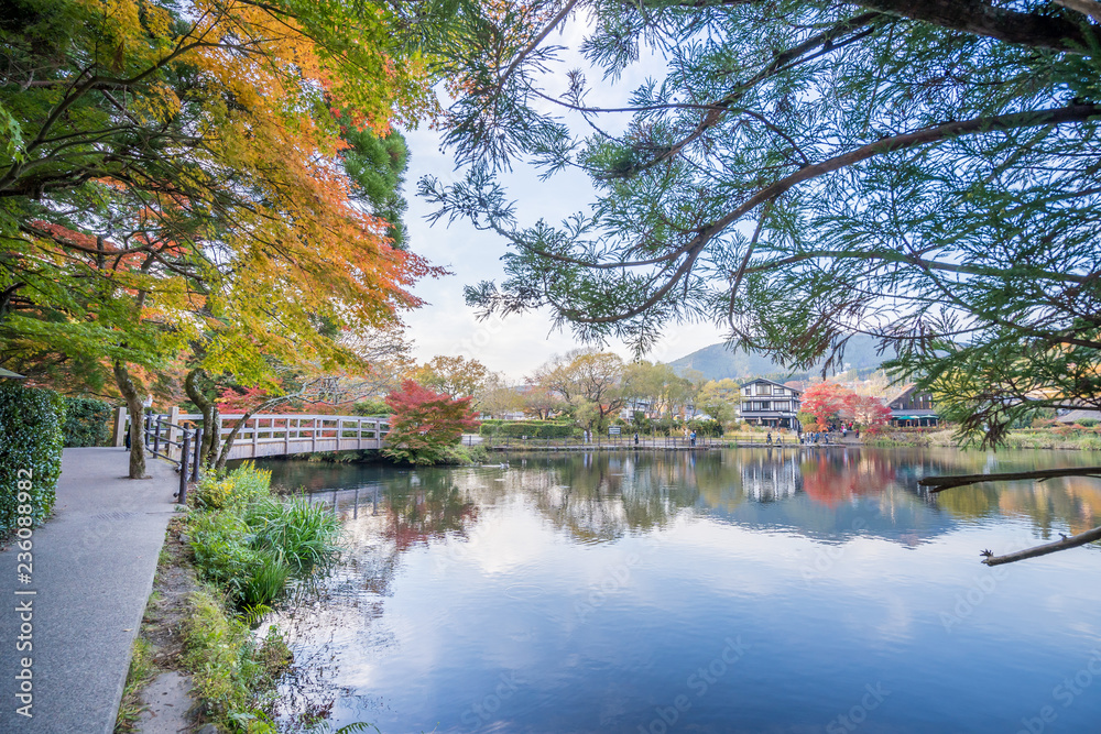
[[[225, 441], [241, 420], [243, 414], [222, 414], [218, 418], [218, 434]], [[129, 425], [126, 408], [119, 408], [115, 421], [115, 445], [123, 446]], [[178, 461], [186, 441], [194, 447], [194, 438], [199, 430], [207, 430], [203, 416], [182, 413], [172, 408], [166, 414], [146, 416], [148, 442], [154, 452], [162, 451]], [[230, 459], [259, 459], [291, 453], [313, 453], [315, 451], [352, 451], [359, 449], [381, 449], [390, 430], [389, 416], [337, 416], [257, 414], [250, 416], [237, 431]]]

